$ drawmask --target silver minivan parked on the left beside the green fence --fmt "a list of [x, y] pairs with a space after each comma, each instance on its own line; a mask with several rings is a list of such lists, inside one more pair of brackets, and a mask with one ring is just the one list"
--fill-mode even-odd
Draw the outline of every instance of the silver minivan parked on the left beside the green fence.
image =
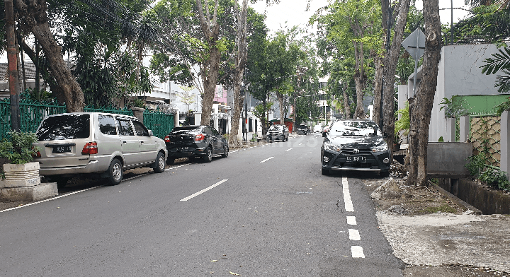
[[40, 148], [34, 161], [40, 175], [64, 187], [71, 177], [89, 174], [119, 184], [123, 170], [152, 167], [164, 172], [168, 155], [162, 139], [136, 117], [75, 112], [46, 117], [37, 130]]

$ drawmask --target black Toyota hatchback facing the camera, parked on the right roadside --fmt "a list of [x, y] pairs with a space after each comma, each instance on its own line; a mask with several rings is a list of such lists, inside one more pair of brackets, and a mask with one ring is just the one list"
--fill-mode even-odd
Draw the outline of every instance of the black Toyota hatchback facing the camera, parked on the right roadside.
[[322, 175], [331, 173], [331, 170], [390, 174], [390, 150], [375, 122], [369, 119], [337, 120], [323, 136]]

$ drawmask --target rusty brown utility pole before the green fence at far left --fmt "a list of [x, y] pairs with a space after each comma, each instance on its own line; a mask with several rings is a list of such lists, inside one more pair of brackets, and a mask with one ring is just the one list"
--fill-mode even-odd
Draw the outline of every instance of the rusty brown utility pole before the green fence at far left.
[[16, 35], [14, 34], [14, 8], [12, 0], [4, 0], [6, 14], [7, 64], [9, 91], [11, 93], [11, 129], [21, 130], [19, 110], [20, 87], [18, 77], [18, 54], [16, 53]]

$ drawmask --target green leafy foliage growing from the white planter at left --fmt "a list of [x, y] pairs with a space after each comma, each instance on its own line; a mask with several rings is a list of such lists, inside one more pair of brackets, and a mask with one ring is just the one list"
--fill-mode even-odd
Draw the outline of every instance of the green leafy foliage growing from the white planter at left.
[[0, 157], [17, 165], [32, 162], [33, 155], [40, 150], [32, 146], [38, 141], [35, 133], [9, 131], [7, 134], [7, 139], [0, 142]]

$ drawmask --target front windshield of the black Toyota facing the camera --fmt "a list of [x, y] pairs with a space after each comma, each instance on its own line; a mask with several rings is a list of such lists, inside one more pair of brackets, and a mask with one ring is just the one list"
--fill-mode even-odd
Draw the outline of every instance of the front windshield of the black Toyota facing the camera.
[[329, 131], [330, 136], [381, 136], [380, 129], [374, 122], [345, 121], [335, 122]]

